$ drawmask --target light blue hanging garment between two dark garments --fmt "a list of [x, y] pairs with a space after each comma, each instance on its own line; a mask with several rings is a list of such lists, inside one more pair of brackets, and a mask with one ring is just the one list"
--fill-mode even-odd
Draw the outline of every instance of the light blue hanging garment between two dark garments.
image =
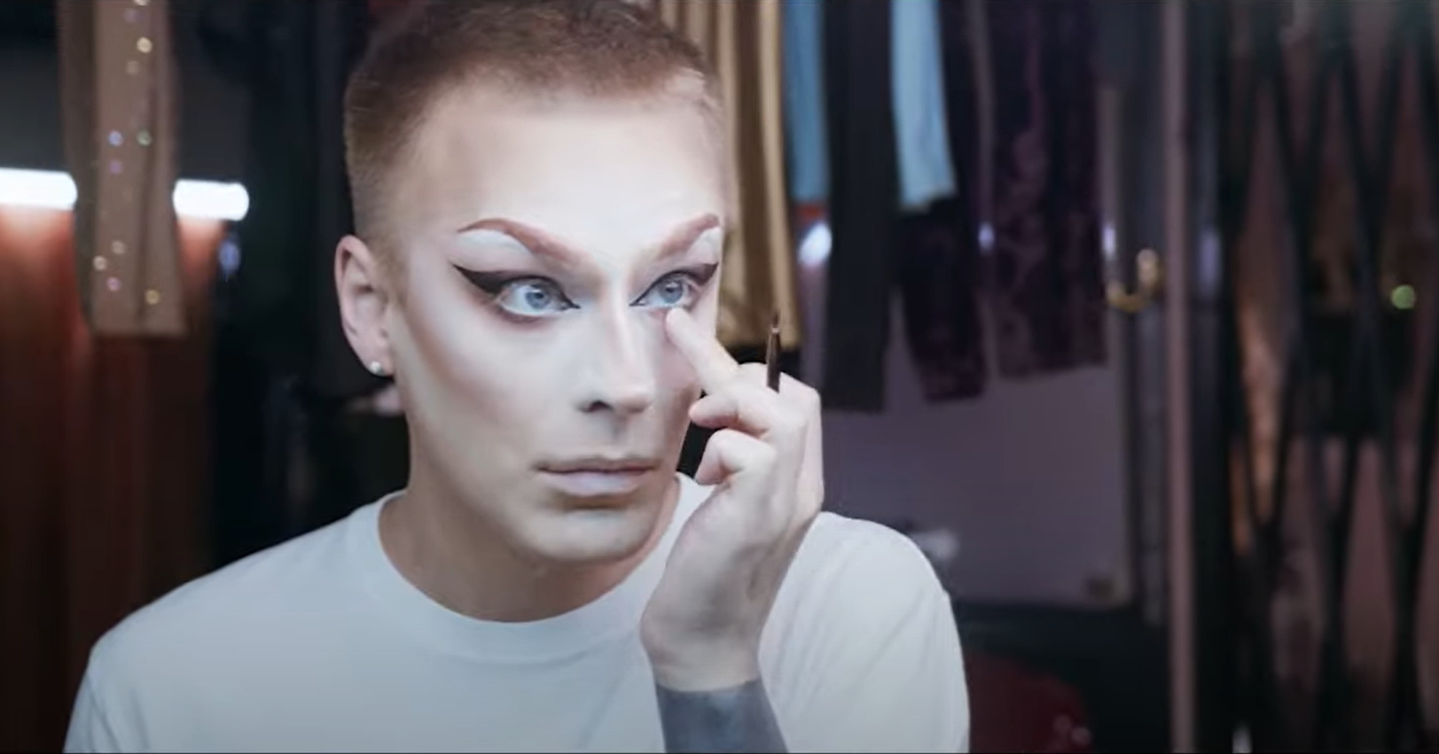
[[[951, 3], [953, 4], [953, 3]], [[950, 130], [944, 112], [944, 69], [938, 0], [891, 3], [891, 75], [899, 206], [922, 210], [954, 194]]]

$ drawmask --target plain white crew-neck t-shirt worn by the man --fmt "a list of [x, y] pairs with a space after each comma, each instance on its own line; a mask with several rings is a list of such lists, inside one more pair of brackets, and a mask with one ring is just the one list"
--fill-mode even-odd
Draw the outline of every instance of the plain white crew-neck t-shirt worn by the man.
[[[360, 508], [191, 581], [91, 653], [66, 751], [663, 751], [637, 636], [679, 525], [570, 613], [495, 623], [412, 586]], [[389, 499], [389, 498], [387, 498]], [[820, 514], [761, 642], [791, 751], [963, 751], [950, 599], [920, 550]]]

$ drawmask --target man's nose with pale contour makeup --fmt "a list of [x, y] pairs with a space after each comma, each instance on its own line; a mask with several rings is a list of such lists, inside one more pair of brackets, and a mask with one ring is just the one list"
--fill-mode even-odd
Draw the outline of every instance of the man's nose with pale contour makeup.
[[604, 312], [581, 357], [580, 409], [636, 414], [655, 404], [658, 390], [643, 322], [627, 305]]

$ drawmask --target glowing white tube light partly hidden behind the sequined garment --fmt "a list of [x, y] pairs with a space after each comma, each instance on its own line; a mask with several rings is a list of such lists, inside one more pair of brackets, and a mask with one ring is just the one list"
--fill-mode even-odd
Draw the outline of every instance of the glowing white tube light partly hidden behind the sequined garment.
[[[237, 183], [178, 180], [173, 201], [176, 214], [209, 220], [240, 220], [250, 209], [250, 194]], [[55, 170], [0, 168], [0, 204], [69, 210], [75, 181]]]

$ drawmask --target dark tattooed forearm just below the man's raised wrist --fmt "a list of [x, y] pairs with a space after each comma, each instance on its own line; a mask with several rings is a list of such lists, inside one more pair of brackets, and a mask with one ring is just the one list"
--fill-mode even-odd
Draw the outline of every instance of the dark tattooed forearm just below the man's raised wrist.
[[786, 751], [760, 679], [718, 691], [655, 686], [665, 751]]

